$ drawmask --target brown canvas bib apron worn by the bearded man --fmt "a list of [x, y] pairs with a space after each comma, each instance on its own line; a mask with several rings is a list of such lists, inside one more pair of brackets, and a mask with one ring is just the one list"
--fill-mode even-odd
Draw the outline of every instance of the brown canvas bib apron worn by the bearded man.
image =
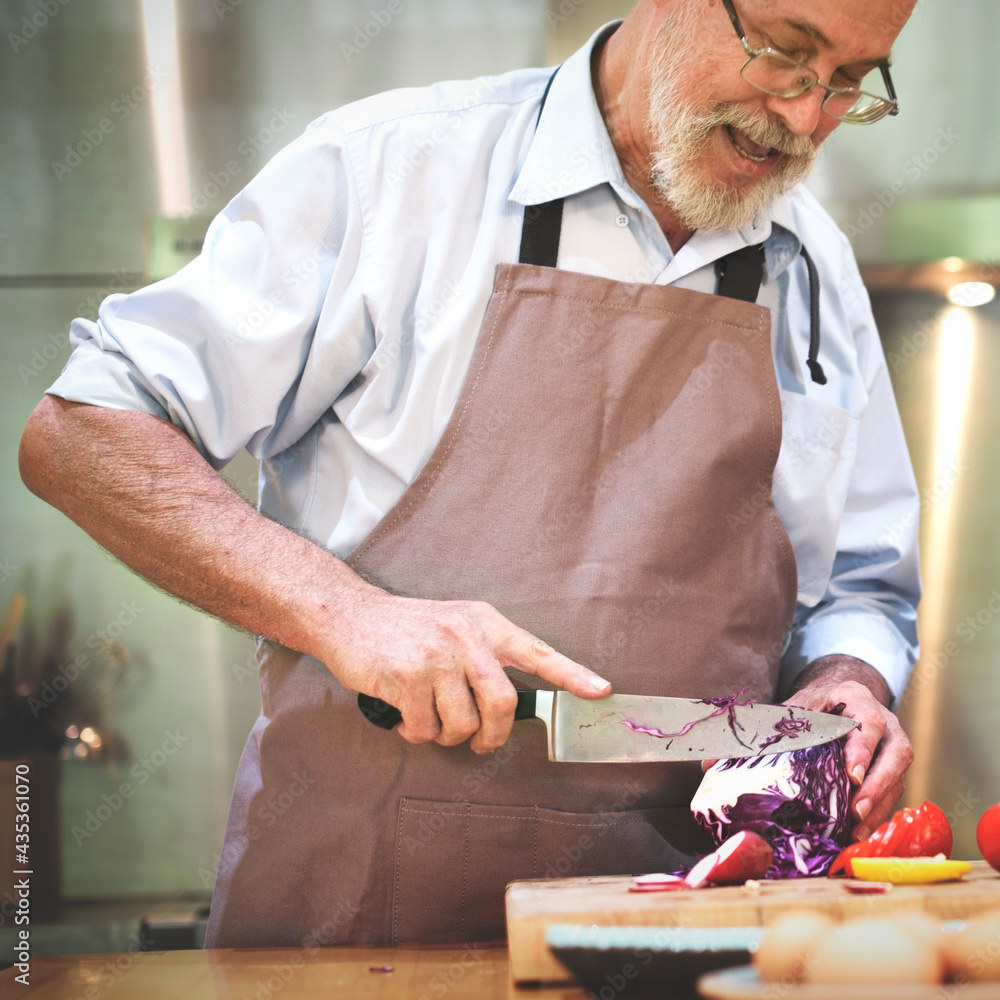
[[[522, 258], [554, 264], [545, 224]], [[772, 698], [796, 585], [759, 262], [751, 302], [537, 262], [499, 266], [444, 436], [349, 561], [488, 601], [619, 692]], [[537, 721], [491, 755], [412, 746], [318, 661], [260, 665], [210, 947], [502, 938], [511, 880], [705, 849], [697, 763], [550, 763]]]

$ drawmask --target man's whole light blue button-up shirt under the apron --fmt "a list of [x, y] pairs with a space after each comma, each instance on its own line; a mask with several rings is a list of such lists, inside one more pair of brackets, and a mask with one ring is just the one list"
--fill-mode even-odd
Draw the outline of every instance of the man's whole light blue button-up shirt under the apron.
[[[920, 501], [849, 244], [799, 187], [750, 228], [673, 253], [594, 97], [608, 28], [560, 69], [537, 130], [551, 69], [392, 91], [313, 122], [213, 221], [197, 260], [73, 324], [49, 391], [166, 418], [216, 467], [249, 450], [261, 510], [345, 556], [440, 438], [524, 205], [564, 197], [559, 266], [620, 281], [712, 292], [716, 259], [764, 241], [758, 302], [783, 411], [773, 497], [799, 573], [782, 681], [845, 653], [898, 697], [917, 655]], [[802, 243], [819, 270], [823, 386], [805, 366]]]

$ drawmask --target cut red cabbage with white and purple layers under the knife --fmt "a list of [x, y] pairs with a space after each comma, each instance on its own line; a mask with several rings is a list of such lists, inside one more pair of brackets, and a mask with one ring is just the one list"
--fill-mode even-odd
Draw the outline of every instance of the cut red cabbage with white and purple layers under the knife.
[[760, 757], [720, 760], [691, 800], [716, 844], [741, 830], [774, 848], [766, 878], [825, 875], [848, 843], [850, 782], [839, 740]]

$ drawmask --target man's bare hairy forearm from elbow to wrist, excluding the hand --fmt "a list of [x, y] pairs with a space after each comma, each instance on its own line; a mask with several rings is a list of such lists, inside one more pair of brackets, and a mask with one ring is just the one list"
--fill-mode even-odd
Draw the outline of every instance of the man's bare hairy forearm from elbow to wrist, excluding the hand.
[[335, 595], [368, 585], [247, 504], [177, 428], [46, 396], [21, 444], [28, 488], [171, 594], [318, 654]]

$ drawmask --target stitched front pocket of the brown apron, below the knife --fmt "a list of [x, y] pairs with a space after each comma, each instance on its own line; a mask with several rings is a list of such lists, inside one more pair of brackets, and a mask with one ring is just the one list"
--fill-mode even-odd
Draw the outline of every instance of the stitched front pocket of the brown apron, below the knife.
[[675, 826], [683, 827], [691, 850], [694, 822], [687, 806], [574, 813], [404, 798], [393, 871], [393, 944], [502, 940], [504, 890], [519, 879], [689, 866], [695, 859], [660, 833]]

